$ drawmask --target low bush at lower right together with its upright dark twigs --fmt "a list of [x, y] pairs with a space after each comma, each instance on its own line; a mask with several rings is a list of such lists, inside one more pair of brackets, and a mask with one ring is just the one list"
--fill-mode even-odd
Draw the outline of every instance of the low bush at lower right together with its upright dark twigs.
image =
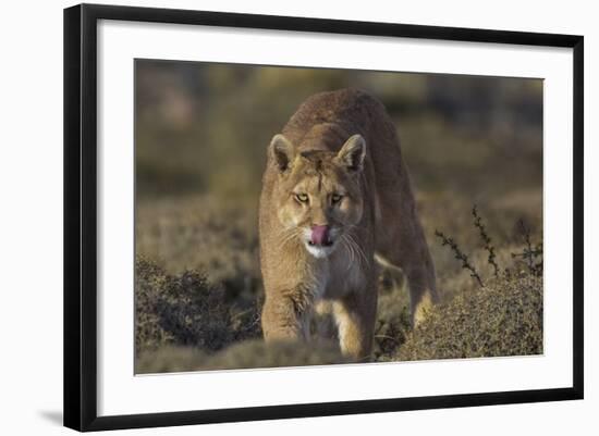
[[[501, 267], [498, 260], [506, 258], [506, 249], [496, 250], [476, 207], [472, 216], [484, 245], [476, 256], [468, 257], [442, 232], [436, 235], [477, 286], [431, 308], [399, 349], [400, 360], [542, 353], [542, 245], [533, 246], [530, 229], [519, 221], [525, 245], [519, 252], [510, 252], [510, 267]], [[487, 276], [480, 273], [484, 258]]]

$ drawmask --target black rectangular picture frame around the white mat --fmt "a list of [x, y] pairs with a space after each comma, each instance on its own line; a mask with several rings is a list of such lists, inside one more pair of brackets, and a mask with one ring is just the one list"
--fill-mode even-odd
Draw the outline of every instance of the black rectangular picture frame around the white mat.
[[[98, 416], [96, 29], [98, 20], [565, 47], [574, 71], [574, 353], [567, 388]], [[64, 10], [64, 425], [78, 431], [257, 421], [583, 398], [583, 36], [81, 4]]]

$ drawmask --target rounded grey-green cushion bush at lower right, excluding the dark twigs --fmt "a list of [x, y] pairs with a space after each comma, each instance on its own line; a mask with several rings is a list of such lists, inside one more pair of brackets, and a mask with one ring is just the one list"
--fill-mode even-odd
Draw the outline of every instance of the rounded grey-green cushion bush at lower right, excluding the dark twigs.
[[542, 279], [524, 274], [457, 295], [429, 313], [396, 359], [542, 353]]

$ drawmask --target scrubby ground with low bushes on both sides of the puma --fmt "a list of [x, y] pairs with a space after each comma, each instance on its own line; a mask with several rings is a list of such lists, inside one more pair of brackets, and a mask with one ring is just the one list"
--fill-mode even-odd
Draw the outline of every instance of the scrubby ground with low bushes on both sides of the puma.
[[[512, 256], [525, 248], [522, 235], [514, 229], [517, 226], [502, 225], [508, 219], [497, 219], [499, 213], [509, 217], [516, 214], [505, 208], [503, 212], [494, 210], [496, 220], [489, 220], [488, 226], [493, 232], [488, 228], [487, 232], [493, 235], [493, 242], [500, 244], [494, 249], [494, 261], [501, 267], [497, 279], [485, 244], [472, 224], [469, 209], [456, 211], [450, 222], [439, 214], [443, 204], [423, 208], [427, 231], [433, 225], [460, 229], [455, 239], [468, 253], [486, 286], [480, 288], [453, 259], [451, 250], [429, 238], [443, 302], [412, 332], [406, 281], [401, 273], [381, 271], [374, 360], [542, 352], [542, 281], [528, 274], [526, 263]], [[526, 211], [521, 212], [521, 216], [526, 216]], [[480, 213], [487, 224], [488, 213]], [[528, 221], [538, 223], [539, 219]], [[344, 362], [331, 344], [281, 345], [270, 349], [261, 342], [262, 289], [253, 222], [252, 214], [243, 214], [240, 208], [235, 210], [201, 197], [139, 207], [138, 372]], [[538, 231], [535, 235], [538, 240]], [[159, 260], [149, 261], [149, 256]], [[506, 267], [510, 277], [505, 276]]]

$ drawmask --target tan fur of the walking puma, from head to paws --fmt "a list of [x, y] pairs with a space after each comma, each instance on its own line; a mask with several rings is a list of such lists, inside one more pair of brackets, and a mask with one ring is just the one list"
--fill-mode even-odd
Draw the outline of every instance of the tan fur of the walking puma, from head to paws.
[[[298, 192], [309, 201], [300, 201]], [[337, 203], [333, 194], [341, 195]], [[341, 350], [370, 359], [375, 252], [406, 275], [413, 323], [426, 312], [424, 306], [438, 300], [395, 127], [384, 107], [365, 92], [317, 94], [273, 137], [259, 221], [267, 340], [309, 339], [309, 317], [326, 302]], [[326, 254], [309, 251], [311, 225], [332, 229], [334, 242]]]

